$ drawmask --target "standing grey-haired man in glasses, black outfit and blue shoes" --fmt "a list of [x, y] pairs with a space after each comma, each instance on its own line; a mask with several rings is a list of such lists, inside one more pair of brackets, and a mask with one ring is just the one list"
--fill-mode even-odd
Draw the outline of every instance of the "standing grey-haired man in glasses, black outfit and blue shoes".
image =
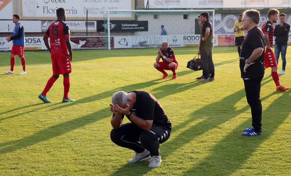
[[243, 28], [248, 31], [240, 53], [239, 68], [244, 80], [246, 99], [251, 106], [252, 126], [244, 129], [243, 136], [260, 135], [262, 132], [262, 104], [260, 100], [261, 81], [265, 74], [265, 41], [258, 28], [260, 13], [258, 10], [244, 11]]

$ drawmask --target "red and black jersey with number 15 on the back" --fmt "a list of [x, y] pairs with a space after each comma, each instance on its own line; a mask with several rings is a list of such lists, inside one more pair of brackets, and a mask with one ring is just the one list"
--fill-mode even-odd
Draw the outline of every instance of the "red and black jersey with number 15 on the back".
[[62, 21], [55, 21], [49, 25], [45, 36], [50, 38], [51, 54], [56, 56], [68, 55], [66, 37], [70, 37], [70, 28]]

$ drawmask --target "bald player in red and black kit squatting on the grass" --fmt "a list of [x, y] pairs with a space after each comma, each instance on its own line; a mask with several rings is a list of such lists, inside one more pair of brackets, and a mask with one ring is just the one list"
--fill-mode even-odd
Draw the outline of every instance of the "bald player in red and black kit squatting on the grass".
[[[163, 62], [159, 62], [161, 58]], [[165, 79], [169, 76], [168, 73], [165, 72], [165, 70], [171, 70], [173, 72], [172, 79], [176, 79], [178, 62], [175, 58], [174, 51], [172, 48], [169, 47], [168, 42], [162, 42], [162, 48], [159, 49], [156, 62], [154, 63], [154, 67], [164, 74], [162, 79]]]

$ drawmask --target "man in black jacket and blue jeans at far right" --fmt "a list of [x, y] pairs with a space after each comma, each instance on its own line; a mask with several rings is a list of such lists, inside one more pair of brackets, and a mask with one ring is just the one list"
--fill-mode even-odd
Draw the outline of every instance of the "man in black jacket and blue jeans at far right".
[[285, 74], [285, 69], [286, 69], [286, 52], [287, 52], [287, 47], [288, 47], [288, 38], [289, 38], [289, 31], [290, 31], [290, 24], [285, 23], [286, 20], [286, 14], [281, 13], [279, 15], [280, 19], [280, 24], [277, 24], [274, 29], [274, 36], [276, 37], [275, 39], [275, 56], [277, 60], [277, 65], [279, 61], [279, 56], [281, 52], [281, 58], [283, 61], [282, 64], [282, 71], [279, 72], [278, 74]]

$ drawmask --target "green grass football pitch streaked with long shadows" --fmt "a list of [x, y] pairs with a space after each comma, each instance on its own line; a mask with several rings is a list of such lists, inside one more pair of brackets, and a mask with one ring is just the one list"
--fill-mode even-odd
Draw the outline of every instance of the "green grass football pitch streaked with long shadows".
[[[202, 71], [186, 68], [198, 48], [173, 48], [177, 79], [160, 79], [153, 63], [157, 48], [73, 51], [69, 97], [62, 103], [63, 78], [45, 104], [38, 95], [52, 76], [47, 51], [25, 51], [27, 74], [10, 52], [0, 53], [0, 175], [290, 175], [291, 91], [277, 92], [271, 70], [262, 80], [262, 135], [241, 136], [251, 111], [240, 78], [236, 47], [214, 47], [215, 81], [198, 82]], [[291, 86], [291, 48], [287, 50]], [[280, 59], [279, 69], [281, 71]], [[109, 103], [116, 91], [145, 90], [162, 104], [173, 124], [160, 146], [162, 165], [127, 163], [134, 152], [110, 140]], [[129, 122], [127, 119], [124, 122]]]

